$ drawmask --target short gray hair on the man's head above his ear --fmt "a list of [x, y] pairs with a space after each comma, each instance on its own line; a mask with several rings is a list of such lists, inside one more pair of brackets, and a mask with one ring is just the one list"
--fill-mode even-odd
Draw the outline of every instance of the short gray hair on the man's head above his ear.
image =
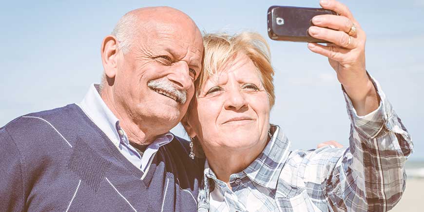
[[136, 32], [137, 17], [131, 13], [127, 13], [119, 19], [118, 23], [112, 31], [111, 35], [115, 36], [119, 41], [118, 48], [124, 55], [130, 52], [131, 44]]

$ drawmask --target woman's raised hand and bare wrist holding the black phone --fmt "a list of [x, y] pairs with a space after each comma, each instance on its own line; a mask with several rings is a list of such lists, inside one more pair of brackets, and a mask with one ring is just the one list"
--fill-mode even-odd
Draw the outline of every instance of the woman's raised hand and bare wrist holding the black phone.
[[378, 108], [379, 99], [366, 74], [365, 32], [346, 5], [336, 0], [321, 0], [320, 4], [339, 16], [320, 15], [312, 19], [315, 26], [309, 27], [310, 36], [328, 40], [331, 44], [308, 43], [308, 48], [328, 57], [358, 115], [366, 115]]

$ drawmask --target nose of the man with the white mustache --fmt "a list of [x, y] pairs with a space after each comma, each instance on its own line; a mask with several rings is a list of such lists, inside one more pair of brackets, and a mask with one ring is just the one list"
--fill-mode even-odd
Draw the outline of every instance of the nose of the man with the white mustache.
[[168, 79], [175, 84], [177, 89], [188, 90], [193, 86], [192, 77], [190, 77], [189, 66], [184, 61], [173, 64], [173, 72], [168, 75]]

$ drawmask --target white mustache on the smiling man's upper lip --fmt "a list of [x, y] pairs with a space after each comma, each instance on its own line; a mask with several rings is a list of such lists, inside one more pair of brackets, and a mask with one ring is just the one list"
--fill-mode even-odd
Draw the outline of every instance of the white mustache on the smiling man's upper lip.
[[150, 80], [147, 83], [147, 86], [152, 90], [163, 91], [174, 96], [176, 98], [176, 101], [180, 104], [184, 104], [187, 101], [187, 91], [176, 89], [173, 83], [167, 79], [160, 78]]

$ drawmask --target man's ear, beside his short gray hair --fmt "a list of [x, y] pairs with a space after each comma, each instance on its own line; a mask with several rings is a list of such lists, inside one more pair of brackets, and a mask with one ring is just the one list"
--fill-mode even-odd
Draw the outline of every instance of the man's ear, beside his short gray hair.
[[118, 40], [113, 35], [108, 35], [101, 43], [101, 60], [107, 78], [115, 78], [117, 72]]

